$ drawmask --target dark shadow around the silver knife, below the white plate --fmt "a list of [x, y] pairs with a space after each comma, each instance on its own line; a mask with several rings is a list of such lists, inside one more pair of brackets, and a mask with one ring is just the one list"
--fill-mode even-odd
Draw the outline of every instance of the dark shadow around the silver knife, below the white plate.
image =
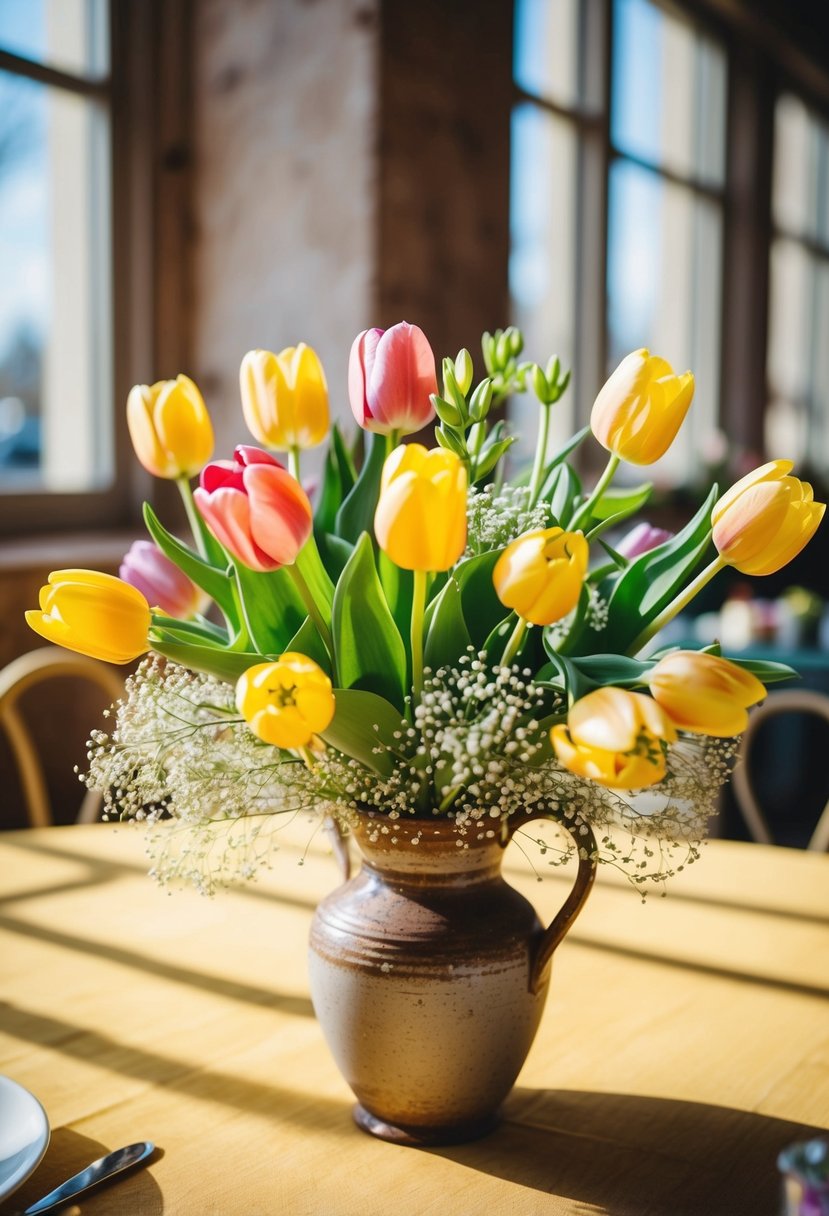
[[[73, 1132], [69, 1127], [55, 1127], [46, 1149], [46, 1155], [30, 1178], [5, 1203], [0, 1203], [0, 1216], [18, 1212], [29, 1204], [41, 1199], [49, 1190], [60, 1187], [73, 1173], [86, 1169], [92, 1161], [105, 1156], [120, 1144], [102, 1144]], [[160, 1216], [164, 1200], [158, 1183], [150, 1172], [153, 1164], [163, 1156], [157, 1148], [147, 1165], [120, 1175], [112, 1183], [102, 1182], [97, 1190], [79, 1197], [78, 1204], [69, 1203], [60, 1209], [62, 1216], [74, 1216], [75, 1212], [106, 1212], [107, 1216]]]

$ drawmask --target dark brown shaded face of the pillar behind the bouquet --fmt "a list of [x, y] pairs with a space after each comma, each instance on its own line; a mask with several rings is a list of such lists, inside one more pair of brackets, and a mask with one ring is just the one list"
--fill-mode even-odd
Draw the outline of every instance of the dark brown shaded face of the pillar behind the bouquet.
[[382, 0], [377, 320], [435, 355], [508, 322], [512, 0]]

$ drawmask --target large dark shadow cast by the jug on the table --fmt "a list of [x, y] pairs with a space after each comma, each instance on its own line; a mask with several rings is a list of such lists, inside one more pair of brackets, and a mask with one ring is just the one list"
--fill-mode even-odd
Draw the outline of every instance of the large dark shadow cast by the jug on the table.
[[607, 1216], [777, 1216], [777, 1154], [820, 1130], [751, 1111], [621, 1093], [518, 1088], [474, 1144], [430, 1149]]

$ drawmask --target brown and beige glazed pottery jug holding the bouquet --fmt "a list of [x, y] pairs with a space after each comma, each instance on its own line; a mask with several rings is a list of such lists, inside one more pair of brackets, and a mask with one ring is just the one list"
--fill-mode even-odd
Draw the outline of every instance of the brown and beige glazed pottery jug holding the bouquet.
[[314, 1008], [359, 1099], [355, 1119], [401, 1143], [484, 1135], [530, 1049], [552, 952], [596, 863], [582, 858], [545, 930], [501, 877], [497, 833], [361, 816], [355, 837], [362, 868], [320, 905], [310, 939]]

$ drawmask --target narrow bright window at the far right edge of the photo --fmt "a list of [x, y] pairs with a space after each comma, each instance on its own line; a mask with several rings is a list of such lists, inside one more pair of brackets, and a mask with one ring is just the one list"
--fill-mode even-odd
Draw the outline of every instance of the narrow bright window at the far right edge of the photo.
[[774, 114], [766, 446], [829, 471], [829, 124], [791, 94]]

